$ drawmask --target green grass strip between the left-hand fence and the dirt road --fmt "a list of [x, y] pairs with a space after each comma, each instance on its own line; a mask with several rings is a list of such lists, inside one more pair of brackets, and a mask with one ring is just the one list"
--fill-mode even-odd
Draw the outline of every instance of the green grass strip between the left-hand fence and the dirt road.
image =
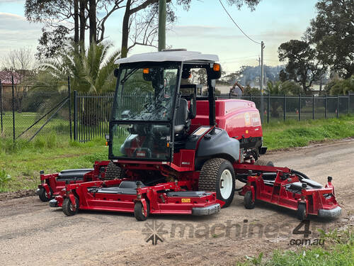
[[46, 173], [64, 169], [91, 168], [95, 160], [107, 160], [104, 139], [89, 143], [60, 143], [51, 137], [28, 143], [12, 140], [0, 143], [0, 192], [35, 189], [40, 184], [40, 170]]

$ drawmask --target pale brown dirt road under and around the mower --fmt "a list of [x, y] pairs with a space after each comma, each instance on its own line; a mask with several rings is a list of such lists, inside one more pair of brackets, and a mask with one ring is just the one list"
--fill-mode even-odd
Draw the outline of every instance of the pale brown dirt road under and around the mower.
[[[262, 157], [326, 183], [333, 177], [340, 218], [311, 217], [309, 239], [317, 229], [354, 225], [354, 140], [313, 145]], [[241, 183], [239, 183], [240, 185]], [[80, 211], [67, 217], [37, 196], [0, 201], [0, 265], [234, 265], [263, 252], [295, 249], [295, 213], [270, 204], [244, 209], [243, 199], [215, 216], [151, 216], [137, 222], [131, 214]], [[302, 228], [303, 229], [303, 228]], [[163, 240], [146, 242], [152, 233]]]

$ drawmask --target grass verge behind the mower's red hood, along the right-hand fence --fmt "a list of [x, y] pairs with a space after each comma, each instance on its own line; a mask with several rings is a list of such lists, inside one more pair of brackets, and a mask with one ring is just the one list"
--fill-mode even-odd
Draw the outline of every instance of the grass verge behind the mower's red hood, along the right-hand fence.
[[340, 118], [271, 122], [263, 125], [268, 150], [304, 147], [312, 142], [339, 140], [354, 136], [354, 116]]

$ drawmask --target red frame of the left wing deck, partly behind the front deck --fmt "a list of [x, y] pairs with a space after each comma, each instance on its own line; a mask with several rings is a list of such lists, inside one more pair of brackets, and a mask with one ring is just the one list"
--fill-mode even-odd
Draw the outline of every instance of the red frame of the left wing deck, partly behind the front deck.
[[[105, 172], [100, 172], [102, 167], [107, 167], [109, 161], [101, 161], [95, 162], [93, 165], [93, 171], [87, 172], [84, 175], [84, 179], [73, 179], [69, 181], [69, 184], [76, 184], [76, 183], [83, 183], [83, 182], [90, 182], [95, 180], [104, 179]], [[62, 189], [65, 188], [66, 182], [57, 180], [59, 173], [55, 174], [44, 174], [44, 172], [40, 171], [40, 184], [38, 185], [38, 189], [43, 187], [47, 192], [47, 195], [50, 195], [49, 198], [58, 196], [62, 193]]]

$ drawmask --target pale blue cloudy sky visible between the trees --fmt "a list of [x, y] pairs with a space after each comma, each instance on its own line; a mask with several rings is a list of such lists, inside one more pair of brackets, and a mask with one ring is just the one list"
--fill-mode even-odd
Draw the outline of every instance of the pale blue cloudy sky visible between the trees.
[[[257, 42], [265, 43], [264, 64], [280, 65], [278, 47], [292, 39], [300, 39], [316, 16], [316, 0], [261, 0], [255, 11], [244, 6], [227, 6], [234, 21]], [[0, 58], [18, 48], [35, 48], [42, 24], [29, 23], [24, 17], [24, 0], [0, 0]], [[166, 33], [166, 44], [219, 55], [226, 72], [242, 65], [258, 65], [261, 45], [246, 38], [232, 23], [219, 0], [193, 0], [189, 11], [176, 7], [178, 20]], [[106, 36], [120, 48], [122, 12], [113, 13], [106, 23]], [[153, 52], [155, 48], [136, 46], [130, 54]], [[1, 60], [0, 60], [1, 61]]]

